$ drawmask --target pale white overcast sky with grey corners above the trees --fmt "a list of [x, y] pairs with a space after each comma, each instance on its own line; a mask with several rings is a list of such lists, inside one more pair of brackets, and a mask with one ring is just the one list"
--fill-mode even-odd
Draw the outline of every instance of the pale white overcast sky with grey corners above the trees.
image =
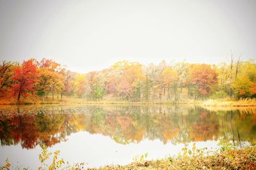
[[0, 0], [0, 60], [45, 57], [87, 73], [124, 59], [255, 59], [255, 45], [255, 0]]

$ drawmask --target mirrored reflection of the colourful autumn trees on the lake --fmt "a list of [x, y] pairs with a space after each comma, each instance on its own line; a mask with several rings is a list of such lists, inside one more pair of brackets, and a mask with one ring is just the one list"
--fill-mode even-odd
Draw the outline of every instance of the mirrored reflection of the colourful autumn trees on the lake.
[[126, 145], [159, 139], [173, 145], [226, 140], [255, 143], [255, 109], [209, 111], [163, 106], [7, 106], [0, 110], [2, 146], [35, 148], [68, 140], [79, 131], [109, 136]]

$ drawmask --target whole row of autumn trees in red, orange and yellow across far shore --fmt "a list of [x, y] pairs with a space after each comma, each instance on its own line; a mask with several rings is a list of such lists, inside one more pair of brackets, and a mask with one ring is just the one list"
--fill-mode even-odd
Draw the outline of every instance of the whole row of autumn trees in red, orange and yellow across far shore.
[[256, 97], [256, 63], [234, 57], [218, 65], [163, 60], [145, 66], [122, 60], [101, 71], [76, 73], [51, 59], [3, 61], [0, 97], [10, 95], [17, 102], [28, 96], [131, 102]]

